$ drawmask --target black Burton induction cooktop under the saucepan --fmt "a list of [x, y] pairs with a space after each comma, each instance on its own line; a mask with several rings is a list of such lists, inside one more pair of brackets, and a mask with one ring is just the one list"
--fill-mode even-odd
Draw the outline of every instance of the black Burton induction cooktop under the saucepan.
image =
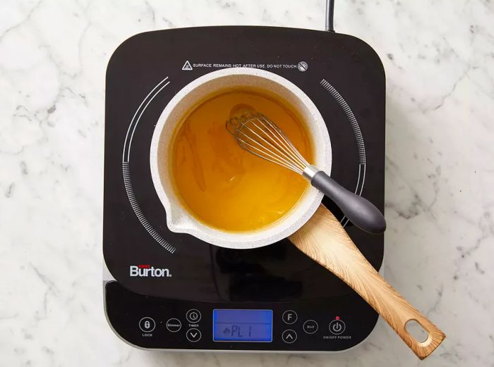
[[[121, 339], [168, 350], [331, 352], [354, 347], [377, 313], [289, 240], [226, 249], [171, 232], [150, 174], [150, 142], [167, 103], [222, 68], [268, 70], [300, 87], [330, 133], [332, 172], [383, 211], [385, 73], [368, 44], [335, 32], [193, 27], [127, 39], [107, 68], [104, 309]], [[325, 204], [379, 269], [383, 235]]]

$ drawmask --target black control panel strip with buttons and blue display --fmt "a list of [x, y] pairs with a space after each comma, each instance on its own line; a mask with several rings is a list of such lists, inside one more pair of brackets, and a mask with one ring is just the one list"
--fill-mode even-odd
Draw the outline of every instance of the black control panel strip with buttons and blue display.
[[296, 303], [211, 303], [145, 296], [108, 282], [105, 304], [114, 331], [150, 349], [337, 351], [364, 340], [378, 318], [356, 294]]

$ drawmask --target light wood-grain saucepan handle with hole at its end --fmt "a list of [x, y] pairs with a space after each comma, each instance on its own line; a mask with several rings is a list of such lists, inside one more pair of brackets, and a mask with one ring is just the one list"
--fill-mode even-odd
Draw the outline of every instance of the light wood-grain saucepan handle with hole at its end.
[[[418, 358], [426, 358], [445, 339], [441, 330], [379, 275], [325, 206], [319, 206], [306, 225], [289, 239], [304, 254], [337, 275], [365, 299]], [[406, 323], [411, 320], [428, 332], [423, 342], [416, 340], [406, 330]]]

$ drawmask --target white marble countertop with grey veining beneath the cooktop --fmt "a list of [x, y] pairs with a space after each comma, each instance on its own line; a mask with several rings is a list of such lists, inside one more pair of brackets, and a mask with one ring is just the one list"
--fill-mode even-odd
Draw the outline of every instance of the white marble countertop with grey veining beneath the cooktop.
[[104, 73], [135, 33], [322, 30], [321, 0], [0, 3], [0, 356], [5, 366], [493, 366], [494, 4], [336, 1], [387, 73], [386, 278], [447, 334], [420, 362], [382, 321], [339, 354], [145, 352], [102, 307]]

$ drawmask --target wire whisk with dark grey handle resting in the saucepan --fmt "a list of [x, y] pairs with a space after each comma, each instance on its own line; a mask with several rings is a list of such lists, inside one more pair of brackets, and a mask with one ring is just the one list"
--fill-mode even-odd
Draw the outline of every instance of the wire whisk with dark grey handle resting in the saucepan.
[[386, 221], [379, 209], [309, 164], [282, 130], [262, 113], [237, 113], [227, 121], [227, 130], [246, 151], [303, 175], [313, 187], [332, 199], [361, 230], [370, 233], [385, 231]]

